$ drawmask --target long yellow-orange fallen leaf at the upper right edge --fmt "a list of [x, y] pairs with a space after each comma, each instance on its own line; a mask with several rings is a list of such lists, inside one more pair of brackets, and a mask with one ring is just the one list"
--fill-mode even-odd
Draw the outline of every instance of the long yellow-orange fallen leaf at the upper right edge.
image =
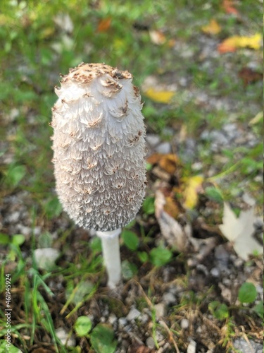
[[235, 52], [237, 48], [249, 47], [251, 49], [260, 49], [261, 45], [261, 35], [256, 33], [251, 37], [242, 36], [239, 37], [235, 35], [234, 37], [227, 38], [222, 43], [218, 45], [218, 52], [220, 54], [227, 52]]

